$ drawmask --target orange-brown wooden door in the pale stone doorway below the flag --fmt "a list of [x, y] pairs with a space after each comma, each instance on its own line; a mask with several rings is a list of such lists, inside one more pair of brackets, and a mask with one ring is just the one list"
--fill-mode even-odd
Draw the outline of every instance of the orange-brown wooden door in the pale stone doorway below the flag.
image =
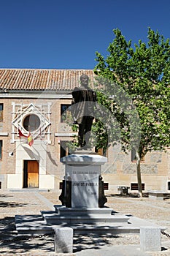
[[39, 162], [35, 160], [26, 161], [27, 187], [39, 187]]

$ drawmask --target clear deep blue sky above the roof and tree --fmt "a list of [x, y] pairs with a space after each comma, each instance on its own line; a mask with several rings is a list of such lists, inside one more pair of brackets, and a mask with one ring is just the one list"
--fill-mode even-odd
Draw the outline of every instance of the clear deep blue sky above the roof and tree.
[[0, 68], [93, 69], [120, 29], [170, 38], [169, 0], [0, 0]]

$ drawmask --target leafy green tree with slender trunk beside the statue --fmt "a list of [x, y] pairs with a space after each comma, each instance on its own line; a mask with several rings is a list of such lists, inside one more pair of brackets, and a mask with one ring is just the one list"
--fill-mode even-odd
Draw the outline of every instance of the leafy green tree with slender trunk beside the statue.
[[[118, 141], [123, 150], [136, 151], [136, 173], [139, 195], [142, 196], [142, 157], [148, 151], [164, 150], [170, 144], [169, 39], [149, 28], [147, 43], [139, 40], [132, 47], [131, 40], [127, 42], [119, 29], [115, 29], [114, 34], [115, 39], [109, 44], [107, 57], [96, 53], [98, 64], [94, 72], [99, 86], [98, 104], [109, 108], [120, 124]], [[100, 148], [101, 144], [106, 148], [106, 129], [101, 127], [101, 122], [96, 122], [93, 129], [98, 137], [97, 147]], [[101, 129], [105, 131], [102, 136]], [[116, 136], [111, 135], [115, 133], [111, 129], [109, 143], [117, 140]], [[138, 143], [136, 136], [139, 136]]]

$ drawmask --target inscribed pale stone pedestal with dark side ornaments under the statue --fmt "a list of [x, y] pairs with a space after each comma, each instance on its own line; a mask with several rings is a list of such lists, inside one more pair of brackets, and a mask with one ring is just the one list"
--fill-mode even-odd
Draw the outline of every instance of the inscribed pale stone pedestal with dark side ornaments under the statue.
[[[101, 192], [103, 182], [101, 181], [101, 165], [107, 162], [107, 157], [80, 151], [79, 154], [63, 157], [61, 162], [66, 165], [66, 169], [60, 199], [65, 202], [66, 207], [102, 207], [107, 199], [104, 197], [104, 192]], [[68, 193], [71, 193], [71, 196]]]

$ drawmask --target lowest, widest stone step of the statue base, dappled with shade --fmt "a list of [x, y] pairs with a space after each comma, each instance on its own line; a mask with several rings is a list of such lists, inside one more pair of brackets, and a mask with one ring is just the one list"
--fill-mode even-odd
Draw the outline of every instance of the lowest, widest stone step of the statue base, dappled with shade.
[[100, 223], [98, 224], [68, 224], [60, 223], [58, 225], [50, 225], [45, 223], [45, 220], [41, 218], [40, 215], [16, 215], [15, 216], [16, 230], [18, 235], [44, 235], [50, 234], [53, 232], [54, 227], [72, 227], [74, 233], [77, 234], [89, 234], [89, 233], [98, 233], [98, 234], [119, 234], [119, 233], [139, 233], [139, 227], [134, 227], [127, 223], [115, 223], [115, 225], [109, 225], [109, 223]]

